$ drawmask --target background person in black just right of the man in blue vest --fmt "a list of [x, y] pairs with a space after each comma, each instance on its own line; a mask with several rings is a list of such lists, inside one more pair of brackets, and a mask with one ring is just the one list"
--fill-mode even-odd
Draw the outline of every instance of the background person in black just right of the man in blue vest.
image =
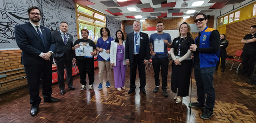
[[226, 62], [225, 59], [227, 57], [227, 51], [226, 48], [229, 45], [229, 41], [226, 40], [226, 35], [225, 34], [221, 34], [221, 40], [220, 40], [220, 58], [219, 61], [216, 65], [215, 70], [218, 70], [218, 67], [220, 65], [220, 59], [221, 59], [221, 72], [224, 72], [225, 68], [226, 68]]

